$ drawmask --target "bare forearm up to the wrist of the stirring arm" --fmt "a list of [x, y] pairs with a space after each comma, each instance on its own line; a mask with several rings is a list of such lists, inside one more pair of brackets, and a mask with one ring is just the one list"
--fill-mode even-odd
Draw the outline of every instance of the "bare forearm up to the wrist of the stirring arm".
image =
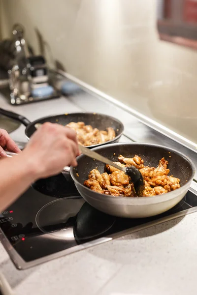
[[0, 212], [12, 204], [37, 178], [31, 160], [23, 152], [0, 160]]

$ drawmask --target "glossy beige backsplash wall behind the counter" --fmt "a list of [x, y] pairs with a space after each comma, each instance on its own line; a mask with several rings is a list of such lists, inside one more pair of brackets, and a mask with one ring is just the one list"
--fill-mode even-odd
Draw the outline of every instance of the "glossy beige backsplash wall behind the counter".
[[3, 37], [197, 144], [197, 51], [159, 40], [157, 0], [1, 1]]

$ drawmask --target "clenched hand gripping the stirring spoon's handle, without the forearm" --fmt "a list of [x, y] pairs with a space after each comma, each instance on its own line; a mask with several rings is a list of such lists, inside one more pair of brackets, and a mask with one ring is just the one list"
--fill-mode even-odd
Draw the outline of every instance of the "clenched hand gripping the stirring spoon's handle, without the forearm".
[[37, 178], [60, 173], [65, 166], [77, 166], [79, 154], [76, 132], [49, 122], [33, 134], [23, 151]]

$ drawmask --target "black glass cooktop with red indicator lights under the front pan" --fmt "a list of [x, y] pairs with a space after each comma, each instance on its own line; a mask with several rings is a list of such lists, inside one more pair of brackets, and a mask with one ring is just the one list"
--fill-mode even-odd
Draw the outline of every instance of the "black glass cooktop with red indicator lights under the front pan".
[[56, 253], [61, 256], [79, 250], [77, 246], [85, 247], [84, 243], [99, 237], [196, 206], [197, 196], [189, 191], [178, 205], [158, 216], [118, 218], [91, 207], [79, 196], [70, 177], [60, 174], [38, 180], [1, 212], [0, 238], [14, 264], [26, 268], [54, 258]]

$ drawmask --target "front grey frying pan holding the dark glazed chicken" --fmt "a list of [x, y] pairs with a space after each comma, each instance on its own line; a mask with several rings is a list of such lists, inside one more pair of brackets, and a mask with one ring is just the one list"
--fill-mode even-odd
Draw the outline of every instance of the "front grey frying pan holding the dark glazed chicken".
[[77, 168], [71, 167], [70, 174], [80, 195], [93, 207], [100, 211], [126, 218], [144, 218], [161, 214], [178, 204], [187, 193], [195, 175], [193, 162], [184, 154], [171, 148], [139, 143], [120, 143], [94, 148], [96, 152], [112, 161], [118, 161], [118, 156], [139, 155], [144, 160], [144, 166], [157, 167], [163, 157], [169, 162], [170, 175], [180, 178], [181, 187], [166, 194], [152, 197], [115, 197], [97, 193], [84, 186], [89, 172], [98, 168], [104, 172], [104, 164], [85, 155], [77, 158]]

